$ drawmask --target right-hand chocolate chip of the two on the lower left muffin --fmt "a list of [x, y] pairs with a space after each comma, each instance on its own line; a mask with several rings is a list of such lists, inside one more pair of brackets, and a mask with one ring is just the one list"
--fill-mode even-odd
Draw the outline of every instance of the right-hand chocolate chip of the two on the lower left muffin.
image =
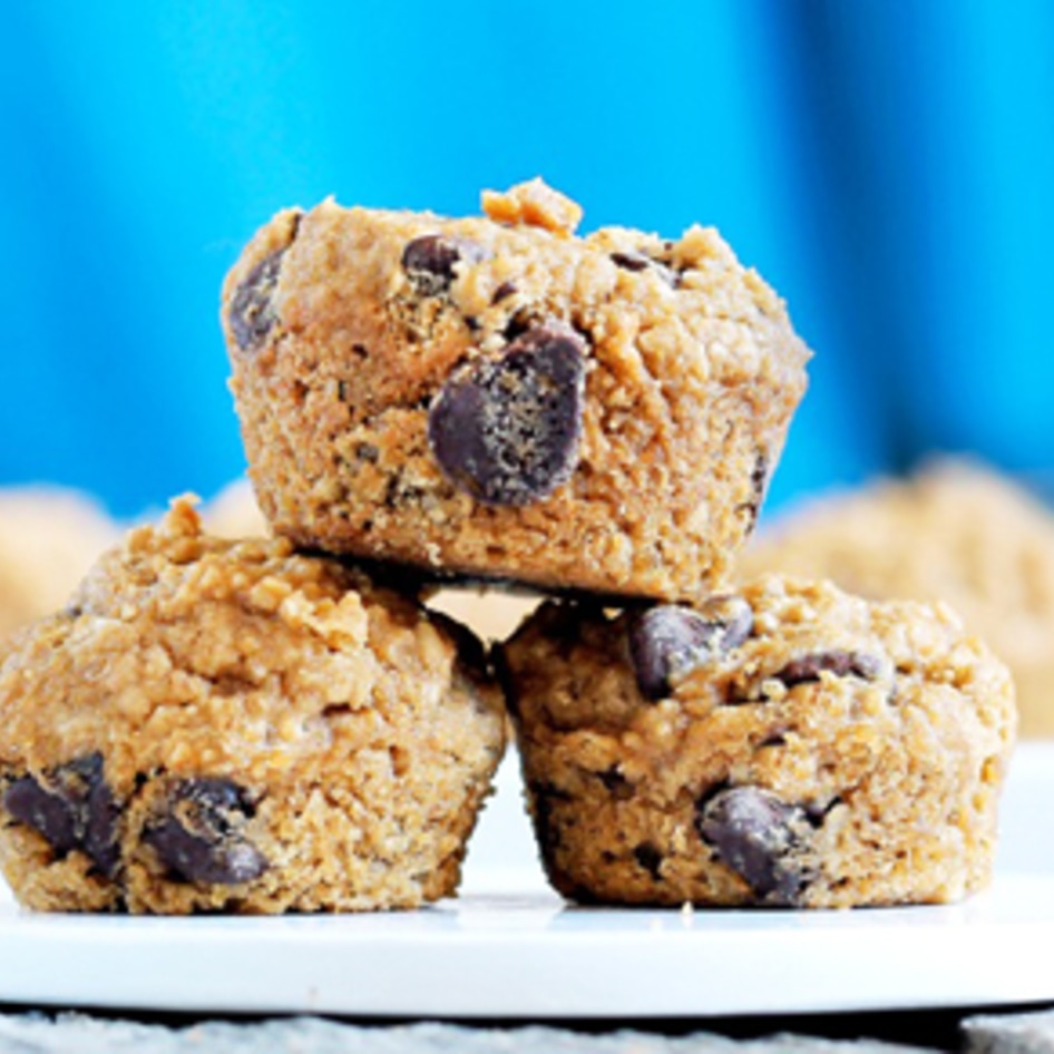
[[183, 780], [172, 791], [167, 814], [143, 832], [143, 841], [185, 881], [250, 882], [267, 868], [242, 835], [253, 811], [245, 790], [231, 780]]

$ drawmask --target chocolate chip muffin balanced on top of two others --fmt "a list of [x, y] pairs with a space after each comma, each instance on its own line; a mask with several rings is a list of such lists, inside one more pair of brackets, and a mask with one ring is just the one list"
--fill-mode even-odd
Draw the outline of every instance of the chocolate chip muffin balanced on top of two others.
[[261, 507], [301, 546], [545, 588], [700, 596], [750, 534], [808, 352], [712, 230], [538, 180], [487, 215], [289, 209], [223, 325]]

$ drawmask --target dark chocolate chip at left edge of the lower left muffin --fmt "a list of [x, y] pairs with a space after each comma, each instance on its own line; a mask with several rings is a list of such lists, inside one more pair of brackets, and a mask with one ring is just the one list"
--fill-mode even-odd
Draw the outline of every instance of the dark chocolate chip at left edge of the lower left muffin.
[[107, 877], [117, 869], [119, 807], [103, 778], [103, 755], [77, 758], [53, 769], [41, 783], [25, 775], [3, 796], [11, 818], [41, 835], [60, 856], [85, 852]]

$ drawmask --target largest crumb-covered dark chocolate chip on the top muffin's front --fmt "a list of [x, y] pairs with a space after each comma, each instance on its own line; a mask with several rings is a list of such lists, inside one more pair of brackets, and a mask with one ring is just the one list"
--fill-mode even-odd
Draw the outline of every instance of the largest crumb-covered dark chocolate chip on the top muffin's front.
[[584, 394], [584, 341], [538, 325], [500, 359], [450, 375], [429, 411], [428, 439], [447, 477], [476, 500], [530, 505], [578, 462]]

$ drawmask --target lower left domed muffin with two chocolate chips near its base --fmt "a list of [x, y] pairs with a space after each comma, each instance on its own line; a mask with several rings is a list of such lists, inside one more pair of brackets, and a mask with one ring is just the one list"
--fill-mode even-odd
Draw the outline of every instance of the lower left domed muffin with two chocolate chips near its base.
[[414, 907], [504, 748], [482, 648], [285, 540], [131, 531], [0, 665], [0, 865], [41, 910]]

